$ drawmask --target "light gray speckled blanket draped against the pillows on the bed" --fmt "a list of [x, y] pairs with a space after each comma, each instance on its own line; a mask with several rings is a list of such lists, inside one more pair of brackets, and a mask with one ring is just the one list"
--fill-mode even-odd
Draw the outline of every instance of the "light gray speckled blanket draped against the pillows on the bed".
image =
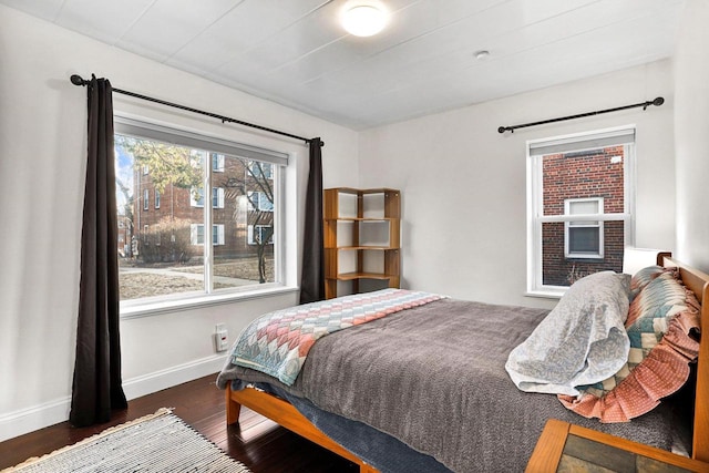
[[505, 369], [522, 391], [578, 395], [628, 359], [625, 320], [630, 276], [596, 273], [576, 281], [523, 343]]

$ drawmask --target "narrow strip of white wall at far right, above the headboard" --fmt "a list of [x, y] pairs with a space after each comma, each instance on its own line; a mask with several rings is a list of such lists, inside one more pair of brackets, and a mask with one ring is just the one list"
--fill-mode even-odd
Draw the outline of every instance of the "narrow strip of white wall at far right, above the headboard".
[[689, 0], [675, 62], [677, 257], [709, 271], [709, 2]]

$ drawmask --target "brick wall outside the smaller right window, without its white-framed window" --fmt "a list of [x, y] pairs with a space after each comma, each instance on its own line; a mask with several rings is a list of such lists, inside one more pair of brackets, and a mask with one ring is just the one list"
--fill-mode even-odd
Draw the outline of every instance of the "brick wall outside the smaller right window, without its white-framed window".
[[[617, 163], [612, 157], [620, 156]], [[624, 147], [612, 146], [580, 153], [544, 156], [544, 215], [563, 215], [568, 198], [603, 197], [604, 213], [624, 212]], [[542, 227], [543, 284], [568, 286], [579, 277], [600, 270], [623, 269], [624, 223], [605, 222], [603, 259], [566, 258], [564, 224]]]

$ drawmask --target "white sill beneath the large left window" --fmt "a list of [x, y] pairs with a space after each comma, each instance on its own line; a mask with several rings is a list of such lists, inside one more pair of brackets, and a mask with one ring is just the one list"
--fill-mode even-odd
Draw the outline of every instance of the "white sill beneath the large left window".
[[[269, 286], [263, 289], [250, 289], [230, 292], [217, 292], [210, 295], [185, 296], [179, 299], [161, 299], [146, 302], [121, 302], [121, 320], [136, 319], [142, 317], [156, 316], [166, 312], [191, 310], [202, 307], [217, 306], [222, 304], [234, 304], [242, 300], [258, 299], [284, 294], [297, 292], [299, 288], [294, 286]], [[127, 304], [126, 304], [127, 302]]]

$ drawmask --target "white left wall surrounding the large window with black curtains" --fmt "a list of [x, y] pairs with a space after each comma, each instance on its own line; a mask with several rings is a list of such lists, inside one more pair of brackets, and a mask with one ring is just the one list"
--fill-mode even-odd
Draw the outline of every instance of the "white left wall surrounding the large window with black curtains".
[[[68, 418], [86, 160], [86, 90], [69, 82], [72, 73], [89, 78], [93, 72], [109, 78], [114, 88], [297, 135], [319, 135], [326, 142], [326, 186], [340, 182], [357, 185], [352, 176], [358, 168], [357, 134], [351, 130], [107, 47], [4, 6], [0, 6], [0, 222], [4, 225], [0, 245], [1, 441]], [[223, 126], [124, 95], [115, 94], [114, 109], [294, 153], [301, 176], [291, 193], [302, 202], [307, 148], [298, 142]], [[294, 243], [289, 240], [290, 249], [297, 251]], [[214, 352], [210, 341], [216, 322], [226, 322], [234, 338], [255, 316], [296, 301], [297, 292], [291, 291], [123, 321], [126, 393], [134, 397], [185, 377], [217, 371], [223, 358]]]

